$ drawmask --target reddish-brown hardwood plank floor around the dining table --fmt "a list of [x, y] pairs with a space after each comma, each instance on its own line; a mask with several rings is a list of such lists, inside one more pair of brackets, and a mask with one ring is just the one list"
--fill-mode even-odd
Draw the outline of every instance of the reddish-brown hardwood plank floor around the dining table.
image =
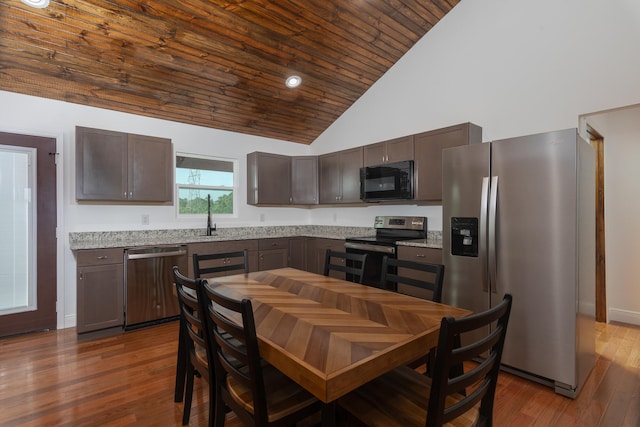
[[[0, 340], [2, 426], [179, 426], [177, 322], [78, 340], [75, 329]], [[640, 426], [640, 327], [597, 324], [597, 360], [577, 399], [501, 373], [496, 426]], [[196, 381], [192, 426], [207, 424]], [[227, 426], [240, 423], [228, 416]]]

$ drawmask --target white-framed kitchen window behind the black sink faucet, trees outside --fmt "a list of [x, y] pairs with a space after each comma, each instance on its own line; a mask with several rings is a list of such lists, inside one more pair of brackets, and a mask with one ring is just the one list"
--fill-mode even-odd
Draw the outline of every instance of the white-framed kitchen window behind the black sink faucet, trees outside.
[[211, 214], [233, 215], [237, 169], [237, 160], [177, 153], [178, 216], [206, 215], [208, 195]]

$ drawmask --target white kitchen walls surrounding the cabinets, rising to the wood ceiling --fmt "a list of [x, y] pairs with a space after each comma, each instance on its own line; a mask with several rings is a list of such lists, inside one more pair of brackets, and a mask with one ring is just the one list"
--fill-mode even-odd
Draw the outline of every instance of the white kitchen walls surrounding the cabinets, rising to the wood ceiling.
[[[68, 232], [142, 229], [143, 213], [152, 228], [201, 226], [178, 221], [168, 207], [77, 205], [76, 125], [168, 137], [178, 151], [235, 157], [241, 176], [246, 153], [256, 149], [321, 154], [467, 121], [482, 126], [488, 141], [577, 127], [581, 114], [639, 103], [638, 40], [637, 0], [463, 0], [310, 147], [0, 92], [1, 131], [56, 135], [62, 145], [59, 326], [75, 325]], [[238, 218], [216, 219], [218, 225], [369, 225], [378, 214], [404, 214], [442, 228], [439, 206], [255, 208], [245, 200], [241, 186]]]

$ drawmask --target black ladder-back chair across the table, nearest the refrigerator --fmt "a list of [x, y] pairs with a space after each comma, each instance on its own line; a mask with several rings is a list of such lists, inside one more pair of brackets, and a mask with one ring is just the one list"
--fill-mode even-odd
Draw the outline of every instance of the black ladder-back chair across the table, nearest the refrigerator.
[[[382, 258], [381, 270], [380, 283], [384, 289], [442, 302], [444, 265], [399, 260], [385, 255]], [[424, 365], [425, 374], [431, 375], [435, 357], [436, 351], [432, 348], [426, 356], [409, 363], [408, 366], [417, 369]]]

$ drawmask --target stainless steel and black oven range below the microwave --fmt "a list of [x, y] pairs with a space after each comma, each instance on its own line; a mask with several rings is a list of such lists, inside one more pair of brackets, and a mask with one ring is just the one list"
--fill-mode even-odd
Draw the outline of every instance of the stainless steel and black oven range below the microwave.
[[[377, 216], [373, 225], [375, 236], [350, 237], [345, 240], [347, 253], [367, 254], [363, 283], [382, 287], [382, 257], [397, 258], [396, 242], [426, 239], [427, 218], [421, 216]], [[347, 278], [349, 279], [349, 278]]]

